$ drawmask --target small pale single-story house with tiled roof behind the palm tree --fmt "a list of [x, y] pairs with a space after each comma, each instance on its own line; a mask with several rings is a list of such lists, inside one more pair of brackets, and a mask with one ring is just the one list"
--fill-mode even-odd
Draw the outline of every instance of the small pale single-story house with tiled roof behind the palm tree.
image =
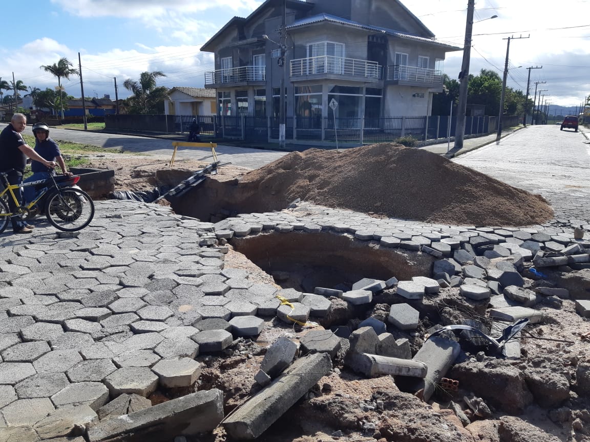
[[173, 87], [164, 100], [166, 115], [215, 115], [215, 89]]

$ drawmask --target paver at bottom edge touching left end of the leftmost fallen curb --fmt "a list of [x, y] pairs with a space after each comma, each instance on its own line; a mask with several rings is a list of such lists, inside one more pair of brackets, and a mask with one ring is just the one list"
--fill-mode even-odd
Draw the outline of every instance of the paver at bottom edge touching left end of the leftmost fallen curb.
[[80, 431], [80, 428], [86, 427], [96, 419], [96, 411], [88, 405], [78, 405], [51, 412], [33, 428], [42, 439], [65, 437]]

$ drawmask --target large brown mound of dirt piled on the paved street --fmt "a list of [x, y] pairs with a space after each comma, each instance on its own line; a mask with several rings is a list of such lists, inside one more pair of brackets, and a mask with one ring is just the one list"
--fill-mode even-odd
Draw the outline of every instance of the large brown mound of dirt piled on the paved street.
[[525, 226], [552, 219], [540, 195], [504, 184], [425, 150], [381, 143], [292, 152], [246, 174], [285, 207], [294, 199], [433, 223]]

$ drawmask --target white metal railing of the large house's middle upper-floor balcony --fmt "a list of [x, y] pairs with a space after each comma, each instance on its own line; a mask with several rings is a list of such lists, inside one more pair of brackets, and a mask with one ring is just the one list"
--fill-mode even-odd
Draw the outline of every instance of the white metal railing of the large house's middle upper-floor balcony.
[[381, 68], [382, 67], [376, 61], [322, 55], [321, 57], [291, 60], [291, 77], [314, 74], [334, 74], [379, 80], [381, 78]]

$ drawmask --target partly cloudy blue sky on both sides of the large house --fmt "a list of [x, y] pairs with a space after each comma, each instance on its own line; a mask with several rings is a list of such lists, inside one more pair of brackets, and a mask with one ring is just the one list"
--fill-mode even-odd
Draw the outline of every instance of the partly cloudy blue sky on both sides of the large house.
[[[463, 46], [467, 0], [402, 0], [437, 39]], [[119, 97], [126, 78], [142, 71], [163, 71], [166, 87], [202, 87], [204, 72], [213, 70], [212, 54], [199, 48], [235, 15], [247, 17], [261, 0], [31, 0], [27, 6], [2, 5], [4, 32], [0, 41], [0, 77], [22, 80], [28, 86], [54, 87], [54, 77], [40, 65], [67, 57], [76, 67], [81, 54], [84, 93]], [[526, 90], [527, 67], [554, 104], [571, 107], [590, 94], [590, 0], [567, 8], [559, 2], [535, 0], [477, 0], [473, 29], [471, 73], [481, 68], [501, 72], [507, 37], [510, 44], [510, 87]], [[573, 10], [572, 10], [573, 8]], [[8, 17], [15, 17], [14, 21]], [[14, 31], [8, 31], [14, 27]], [[462, 52], [450, 52], [445, 73], [456, 78]], [[519, 68], [519, 66], [522, 66]], [[64, 81], [68, 94], [80, 96], [77, 77]]]

